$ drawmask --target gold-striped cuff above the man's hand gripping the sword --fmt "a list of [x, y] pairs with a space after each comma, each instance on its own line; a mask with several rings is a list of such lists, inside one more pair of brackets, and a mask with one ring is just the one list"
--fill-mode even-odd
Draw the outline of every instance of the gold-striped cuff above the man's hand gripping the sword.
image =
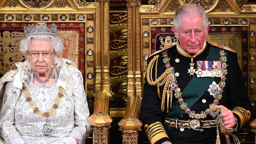
[[250, 111], [244, 109], [243, 107], [235, 107], [232, 112], [239, 116], [240, 128], [243, 127], [250, 119]]

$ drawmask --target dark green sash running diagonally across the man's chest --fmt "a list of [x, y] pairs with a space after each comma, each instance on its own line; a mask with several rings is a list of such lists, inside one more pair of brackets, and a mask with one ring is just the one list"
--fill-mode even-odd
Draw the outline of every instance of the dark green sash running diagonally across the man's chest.
[[[210, 47], [206, 61], [219, 61], [219, 52], [220, 50], [218, 48]], [[186, 88], [182, 91], [182, 98], [184, 98], [184, 102], [187, 103], [187, 107], [191, 107], [202, 97], [214, 79], [215, 77], [197, 78], [197, 76], [191, 79]], [[169, 108], [169, 113], [165, 113], [165, 117], [176, 119], [180, 118], [183, 113], [185, 113], [185, 111], [180, 108], [180, 103], [174, 98], [172, 107]]]

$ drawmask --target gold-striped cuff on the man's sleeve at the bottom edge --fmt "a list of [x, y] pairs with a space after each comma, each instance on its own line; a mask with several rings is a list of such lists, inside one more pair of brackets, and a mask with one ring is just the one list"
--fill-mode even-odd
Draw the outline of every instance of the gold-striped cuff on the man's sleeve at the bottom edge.
[[156, 141], [160, 140], [163, 137], [167, 137], [166, 131], [163, 128], [163, 125], [160, 122], [155, 122], [149, 126], [145, 125], [145, 132], [148, 136], [150, 144], [154, 144]]

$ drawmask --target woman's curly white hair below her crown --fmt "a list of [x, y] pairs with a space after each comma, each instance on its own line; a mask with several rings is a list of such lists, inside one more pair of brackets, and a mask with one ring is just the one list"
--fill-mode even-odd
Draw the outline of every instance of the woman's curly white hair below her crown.
[[55, 51], [55, 56], [58, 56], [61, 52], [63, 52], [63, 41], [59, 37], [54, 37], [52, 35], [44, 35], [44, 36], [37, 36], [37, 35], [30, 35], [25, 39], [20, 41], [20, 52], [26, 57], [28, 50], [30, 48], [30, 44], [32, 43], [33, 39], [40, 39], [44, 41], [49, 41], [52, 43], [52, 47]]

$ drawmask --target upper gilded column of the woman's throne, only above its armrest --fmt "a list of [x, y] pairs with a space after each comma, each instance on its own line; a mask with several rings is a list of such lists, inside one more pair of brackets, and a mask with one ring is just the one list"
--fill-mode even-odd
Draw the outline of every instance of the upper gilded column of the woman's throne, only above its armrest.
[[[109, 87], [109, 0], [96, 4], [96, 65], [95, 93], [103, 90], [111, 96]], [[103, 22], [102, 22], [103, 21]]]

